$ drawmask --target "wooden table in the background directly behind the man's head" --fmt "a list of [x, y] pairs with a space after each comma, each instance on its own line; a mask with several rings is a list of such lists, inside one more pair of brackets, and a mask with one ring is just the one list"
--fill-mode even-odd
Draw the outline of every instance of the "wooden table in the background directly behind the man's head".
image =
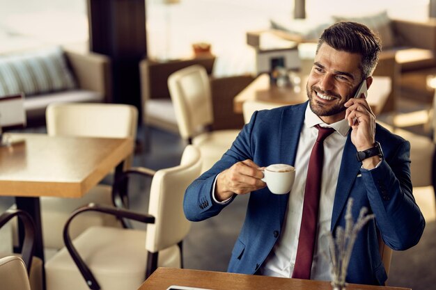
[[[247, 100], [272, 102], [283, 105], [301, 104], [306, 102], [306, 83], [309, 76], [301, 76], [299, 86], [279, 88], [270, 86], [270, 76], [260, 74], [247, 88], [244, 88], [233, 99], [233, 111], [242, 113], [242, 104]], [[375, 115], [382, 111], [387, 97], [391, 92], [391, 79], [388, 76], [373, 76], [373, 83], [368, 89], [368, 104]]]

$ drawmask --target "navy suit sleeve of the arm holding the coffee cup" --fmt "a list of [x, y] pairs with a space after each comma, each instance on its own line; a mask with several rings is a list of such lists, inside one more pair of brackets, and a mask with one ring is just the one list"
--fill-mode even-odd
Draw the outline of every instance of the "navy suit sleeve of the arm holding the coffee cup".
[[[251, 132], [256, 121], [257, 113], [255, 112], [251, 116], [249, 124], [246, 124], [240, 134], [233, 142], [233, 145], [227, 152], [221, 157], [217, 163], [215, 163], [210, 170], [206, 171], [194, 180], [190, 184], [185, 192], [185, 198], [183, 200], [183, 211], [188, 220], [200, 221], [216, 216], [224, 209], [228, 204], [217, 204], [212, 199], [212, 186], [215, 182], [217, 175], [233, 166], [233, 164], [244, 161], [246, 159], [253, 159], [251, 154]], [[235, 195], [233, 195], [233, 199]]]

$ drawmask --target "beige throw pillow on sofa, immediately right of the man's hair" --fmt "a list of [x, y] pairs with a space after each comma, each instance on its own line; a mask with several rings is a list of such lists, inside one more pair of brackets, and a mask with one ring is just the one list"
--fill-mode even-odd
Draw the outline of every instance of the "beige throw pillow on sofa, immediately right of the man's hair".
[[368, 28], [378, 34], [380, 40], [382, 40], [384, 49], [394, 47], [396, 45], [394, 32], [392, 31], [391, 26], [391, 19], [389, 19], [386, 11], [363, 17], [334, 16], [333, 18], [335, 22], [353, 21], [368, 26]]

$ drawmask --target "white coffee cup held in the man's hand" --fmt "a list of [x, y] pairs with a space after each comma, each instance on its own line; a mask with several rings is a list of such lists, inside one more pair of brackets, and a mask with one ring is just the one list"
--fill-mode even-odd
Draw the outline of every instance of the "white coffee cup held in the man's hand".
[[294, 184], [295, 168], [288, 164], [272, 164], [263, 170], [263, 179], [268, 189], [275, 194], [290, 192]]

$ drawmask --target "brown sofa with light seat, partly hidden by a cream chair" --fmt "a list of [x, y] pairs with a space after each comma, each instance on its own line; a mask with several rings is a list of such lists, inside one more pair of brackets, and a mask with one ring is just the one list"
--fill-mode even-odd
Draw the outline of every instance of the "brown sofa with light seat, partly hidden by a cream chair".
[[190, 65], [203, 65], [210, 76], [214, 123], [213, 130], [241, 129], [244, 125], [242, 114], [233, 113], [233, 98], [246, 88], [254, 76], [212, 76], [215, 56], [206, 55], [190, 59], [159, 62], [144, 59], [139, 63], [143, 122], [178, 134], [178, 124], [169, 95], [167, 80], [170, 74]]

